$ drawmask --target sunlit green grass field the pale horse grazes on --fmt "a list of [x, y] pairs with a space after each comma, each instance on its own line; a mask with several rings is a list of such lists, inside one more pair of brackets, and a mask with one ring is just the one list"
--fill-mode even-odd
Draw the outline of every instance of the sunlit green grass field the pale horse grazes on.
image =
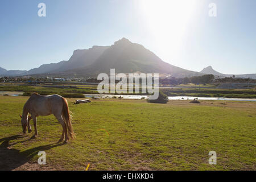
[[[77, 138], [57, 144], [61, 125], [38, 117], [22, 134], [28, 97], [0, 96], [0, 170], [255, 170], [256, 102], [92, 100], [73, 105]], [[32, 123], [31, 123], [32, 124]], [[46, 152], [46, 165], [37, 163]], [[217, 165], [208, 163], [217, 152]]]

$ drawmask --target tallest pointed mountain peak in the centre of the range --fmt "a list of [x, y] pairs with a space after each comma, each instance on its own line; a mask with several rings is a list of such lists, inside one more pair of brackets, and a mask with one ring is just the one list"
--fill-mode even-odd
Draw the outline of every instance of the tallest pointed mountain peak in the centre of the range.
[[110, 73], [111, 68], [115, 68], [115, 73], [167, 73], [172, 77], [203, 75], [168, 64], [142, 45], [131, 43], [126, 38], [122, 38], [112, 46], [107, 47], [92, 64], [77, 69], [69, 69], [64, 73], [97, 76], [99, 73]]

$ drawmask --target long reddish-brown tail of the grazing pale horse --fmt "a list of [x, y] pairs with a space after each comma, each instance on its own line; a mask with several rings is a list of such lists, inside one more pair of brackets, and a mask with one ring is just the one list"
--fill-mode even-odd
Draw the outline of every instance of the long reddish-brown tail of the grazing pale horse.
[[72, 139], [75, 139], [76, 136], [75, 136], [75, 133], [73, 132], [71, 115], [69, 114], [69, 109], [68, 109], [68, 101], [65, 98], [62, 98], [62, 100], [63, 100], [62, 117], [66, 123], [69, 137]]

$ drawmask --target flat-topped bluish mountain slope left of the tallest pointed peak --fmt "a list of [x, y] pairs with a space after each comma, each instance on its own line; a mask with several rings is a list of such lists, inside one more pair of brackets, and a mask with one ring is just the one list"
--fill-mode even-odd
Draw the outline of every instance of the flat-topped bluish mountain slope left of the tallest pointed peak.
[[78, 49], [68, 61], [60, 61], [59, 63], [43, 64], [39, 68], [31, 69], [26, 75], [35, 75], [42, 73], [58, 73], [67, 71], [68, 69], [76, 69], [86, 67], [95, 61], [108, 46], [93, 46], [89, 49]]

